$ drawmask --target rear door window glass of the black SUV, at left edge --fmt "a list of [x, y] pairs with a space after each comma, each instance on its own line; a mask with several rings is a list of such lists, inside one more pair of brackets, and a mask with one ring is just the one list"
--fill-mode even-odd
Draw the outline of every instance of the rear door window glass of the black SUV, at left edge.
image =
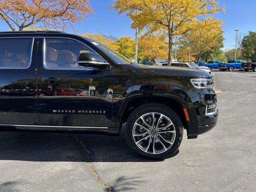
[[0, 39], [0, 68], [27, 68], [31, 63], [33, 38]]

